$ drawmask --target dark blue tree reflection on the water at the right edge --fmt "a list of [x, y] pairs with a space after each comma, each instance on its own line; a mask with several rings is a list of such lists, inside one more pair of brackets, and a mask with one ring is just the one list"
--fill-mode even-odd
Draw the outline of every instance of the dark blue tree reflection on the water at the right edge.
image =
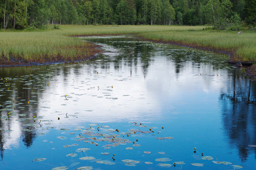
[[239, 149], [242, 161], [248, 157], [248, 151], [256, 149], [256, 85], [236, 72], [230, 73], [230, 84], [219, 95], [222, 106], [224, 128], [232, 145]]

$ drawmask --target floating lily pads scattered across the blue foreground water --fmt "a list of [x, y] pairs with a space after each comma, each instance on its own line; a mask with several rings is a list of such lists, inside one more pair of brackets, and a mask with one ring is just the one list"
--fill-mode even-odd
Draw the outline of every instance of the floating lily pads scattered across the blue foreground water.
[[[129, 136], [132, 135], [134, 136], [135, 134], [148, 134], [150, 136], [160, 136], [161, 135], [161, 131], [157, 131], [157, 133], [154, 132], [153, 129], [157, 129], [157, 127], [147, 127], [143, 124], [137, 124], [135, 122], [131, 122], [132, 126], [135, 127], [139, 127], [139, 128], [131, 128], [129, 130], [127, 130], [126, 132], [120, 132], [119, 129], [114, 129], [114, 128], [110, 128], [110, 126], [99, 126], [98, 124], [90, 124], [88, 125], [88, 127], [75, 127], [73, 130], [77, 131], [78, 133], [68, 133], [69, 135], [74, 135], [72, 137], [72, 139], [75, 139], [77, 142], [84, 142], [85, 145], [95, 145], [95, 146], [101, 146], [104, 149], [111, 149], [114, 147], [118, 147], [120, 145], [132, 145], [133, 147], [140, 147], [140, 144], [137, 144], [135, 142], [138, 142], [139, 139], [136, 140], [129, 140]], [[142, 130], [143, 128], [147, 128], [150, 130]], [[61, 128], [61, 131], [69, 131], [71, 130], [70, 128]], [[152, 132], [153, 131], [153, 132]], [[156, 135], [155, 135], [156, 134]], [[59, 139], [67, 139], [68, 137], [66, 136], [59, 136], [57, 137]], [[157, 140], [168, 140], [168, 139], [173, 139], [173, 137], [153, 137], [156, 138]], [[156, 140], [156, 141], [157, 141]], [[83, 143], [83, 144], [84, 144]], [[72, 144], [72, 145], [64, 145], [63, 148], [70, 148], [73, 146], [77, 146], [79, 144]], [[127, 147], [125, 148], [126, 150], [131, 150], [133, 149], [133, 147]], [[66, 154], [66, 157], [77, 157], [78, 154], [77, 153], [85, 153], [88, 150], [90, 150], [90, 148], [79, 148], [79, 149], [75, 149], [75, 152], [73, 153], [69, 153]], [[151, 151], [144, 151], [144, 154], [151, 154]], [[110, 154], [109, 152], [100, 152], [101, 155], [110, 155], [108, 156], [108, 159], [106, 160], [102, 160], [102, 159], [97, 159], [95, 157], [92, 156], [87, 156], [87, 154], [85, 153], [86, 156], [82, 156], [78, 158], [80, 160], [85, 160], [85, 161], [94, 161], [98, 164], [102, 164], [102, 165], [115, 165], [116, 163], [120, 163], [120, 160], [115, 160], [114, 159], [114, 155], [115, 154]], [[158, 151], [158, 154], [160, 155], [164, 155], [165, 152], [163, 151]], [[110, 157], [112, 156], [111, 160]], [[213, 157], [211, 156], [203, 156], [201, 157], [202, 160], [213, 160]], [[44, 161], [46, 160], [46, 158], [37, 158], [34, 159], [35, 161]], [[172, 162], [171, 163], [170, 158], [157, 158], [155, 159], [156, 162], [159, 162], [158, 164], [155, 164], [157, 167], [166, 167], [166, 168], [170, 168], [172, 166], [183, 166], [185, 163], [185, 161], [176, 161], [176, 162]], [[122, 159], [121, 160], [122, 163], [125, 166], [128, 167], [135, 167], [138, 164], [141, 163], [141, 160], [133, 160], [133, 159]], [[170, 162], [170, 163], [169, 163]], [[240, 169], [243, 168], [242, 166], [239, 165], [233, 165], [231, 162], [227, 162], [227, 161], [212, 161], [215, 164], [223, 164], [223, 165], [232, 165], [233, 169]], [[76, 162], [77, 164], [79, 164], [79, 162]], [[152, 165], [154, 164], [154, 162], [151, 161], [144, 161], [144, 163], [146, 165]], [[192, 166], [196, 166], [196, 167], [203, 167], [205, 164], [204, 163], [190, 163], [190, 165]], [[76, 166], [76, 164], [73, 164], [73, 166]], [[67, 166], [61, 166], [61, 167], [56, 167], [53, 168], [52, 170], [66, 170], [69, 169], [69, 167]], [[93, 170], [93, 166], [83, 166], [83, 167], [78, 167], [76, 168], [77, 170]]]

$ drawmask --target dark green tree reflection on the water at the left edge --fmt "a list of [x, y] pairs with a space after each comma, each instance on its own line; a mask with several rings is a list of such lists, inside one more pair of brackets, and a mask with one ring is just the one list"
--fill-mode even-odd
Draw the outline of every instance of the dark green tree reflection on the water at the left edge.
[[[37, 101], [39, 92], [44, 91], [49, 82], [49, 65], [33, 67], [0, 68], [0, 154], [3, 157], [8, 133], [6, 130], [21, 130], [20, 137], [24, 145], [30, 147], [36, 136]], [[34, 74], [37, 74], [34, 76]], [[2, 78], [2, 79], [1, 79]], [[43, 86], [42, 86], [43, 85]], [[30, 103], [28, 103], [30, 102]], [[18, 119], [24, 121], [16, 121]], [[24, 127], [25, 124], [35, 123], [34, 126]], [[12, 127], [13, 125], [15, 126]], [[19, 125], [19, 128], [16, 128]], [[27, 131], [23, 131], [26, 129]], [[11, 133], [11, 132], [10, 132]], [[12, 140], [12, 137], [8, 140]]]

